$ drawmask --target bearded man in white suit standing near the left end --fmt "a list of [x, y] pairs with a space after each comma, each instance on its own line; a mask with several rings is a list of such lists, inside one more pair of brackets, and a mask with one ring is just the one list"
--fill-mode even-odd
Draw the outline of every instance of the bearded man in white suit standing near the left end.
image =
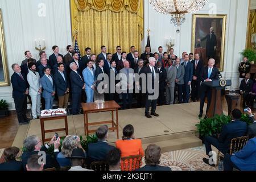
[[27, 82], [30, 85], [29, 95], [32, 102], [31, 111], [33, 119], [36, 119], [40, 116], [42, 85], [39, 73], [36, 72], [35, 63], [28, 63], [28, 69]]

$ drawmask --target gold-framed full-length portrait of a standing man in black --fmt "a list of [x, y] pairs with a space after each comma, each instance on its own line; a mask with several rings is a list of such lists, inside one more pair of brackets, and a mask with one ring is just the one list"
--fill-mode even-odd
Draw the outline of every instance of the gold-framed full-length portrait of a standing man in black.
[[219, 71], [223, 71], [226, 35], [226, 15], [193, 14], [192, 52], [199, 53], [204, 65], [215, 59]]

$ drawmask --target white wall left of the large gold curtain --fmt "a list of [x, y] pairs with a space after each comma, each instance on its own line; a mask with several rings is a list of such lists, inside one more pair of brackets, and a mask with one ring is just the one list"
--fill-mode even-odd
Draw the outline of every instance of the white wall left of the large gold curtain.
[[[39, 16], [42, 6], [46, 7], [45, 16]], [[20, 64], [26, 57], [24, 51], [30, 50], [32, 56], [39, 60], [39, 51], [35, 49], [35, 39], [46, 40], [47, 56], [52, 54], [51, 47], [57, 45], [60, 53], [66, 53], [65, 47], [72, 44], [71, 18], [69, 0], [1, 0], [3, 26], [9, 76], [13, 74], [11, 65]], [[0, 100], [5, 99], [10, 104], [10, 110], [15, 109], [12, 98], [12, 87], [0, 87]]]

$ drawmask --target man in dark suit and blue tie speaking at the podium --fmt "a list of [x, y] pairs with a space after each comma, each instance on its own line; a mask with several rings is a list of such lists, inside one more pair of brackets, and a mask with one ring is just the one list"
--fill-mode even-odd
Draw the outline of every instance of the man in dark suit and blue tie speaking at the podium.
[[204, 67], [201, 72], [200, 80], [202, 81], [202, 84], [200, 87], [200, 118], [202, 117], [204, 112], [203, 108], [205, 97], [207, 97], [207, 111], [210, 107], [210, 100], [212, 99], [212, 89], [209, 86], [204, 85], [203, 82], [218, 80], [218, 69], [216, 67], [213, 67], [214, 64], [215, 60], [209, 59], [208, 67]]

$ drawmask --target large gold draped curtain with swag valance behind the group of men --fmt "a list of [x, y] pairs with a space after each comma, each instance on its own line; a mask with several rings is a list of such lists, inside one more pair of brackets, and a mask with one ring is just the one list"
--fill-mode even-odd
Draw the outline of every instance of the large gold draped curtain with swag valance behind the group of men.
[[71, 16], [72, 36], [82, 55], [86, 47], [96, 54], [101, 46], [112, 53], [117, 46], [141, 51], [143, 0], [71, 0]]

